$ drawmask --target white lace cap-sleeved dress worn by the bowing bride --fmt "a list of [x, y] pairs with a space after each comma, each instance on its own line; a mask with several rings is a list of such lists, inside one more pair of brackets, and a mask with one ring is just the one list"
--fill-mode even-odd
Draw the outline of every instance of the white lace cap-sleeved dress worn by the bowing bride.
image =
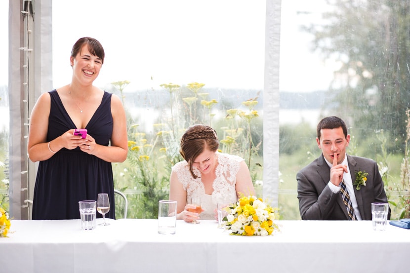
[[[239, 171], [239, 163], [244, 161], [239, 156], [216, 153], [218, 165], [215, 168], [216, 178], [212, 183], [213, 192], [211, 195], [205, 194], [205, 187], [201, 177], [194, 179], [189, 172], [187, 161], [181, 161], [172, 167], [172, 172], [176, 172], [178, 180], [182, 183], [187, 192], [187, 200], [198, 195], [201, 198], [201, 206], [204, 211], [200, 217], [203, 220], [215, 220], [216, 204], [218, 201], [236, 201], [236, 175]], [[201, 172], [193, 167], [194, 173], [201, 176]]]

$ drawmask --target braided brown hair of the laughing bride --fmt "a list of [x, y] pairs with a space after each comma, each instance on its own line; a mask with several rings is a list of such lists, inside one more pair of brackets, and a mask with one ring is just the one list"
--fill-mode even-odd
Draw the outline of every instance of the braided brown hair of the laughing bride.
[[179, 153], [188, 162], [189, 171], [194, 178], [198, 178], [193, 171], [194, 160], [205, 149], [216, 152], [219, 148], [216, 131], [206, 125], [196, 124], [189, 127], [181, 138]]

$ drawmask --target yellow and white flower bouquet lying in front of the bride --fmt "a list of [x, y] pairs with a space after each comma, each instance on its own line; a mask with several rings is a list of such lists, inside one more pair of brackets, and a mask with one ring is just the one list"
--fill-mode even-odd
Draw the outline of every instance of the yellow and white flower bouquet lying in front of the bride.
[[273, 221], [279, 219], [278, 208], [273, 208], [256, 196], [243, 196], [238, 202], [226, 208], [225, 227], [230, 235], [267, 236], [279, 231]]

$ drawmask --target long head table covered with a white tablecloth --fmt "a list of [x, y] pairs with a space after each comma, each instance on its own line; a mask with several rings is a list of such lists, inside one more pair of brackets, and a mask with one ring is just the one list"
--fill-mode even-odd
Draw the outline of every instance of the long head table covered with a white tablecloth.
[[403, 272], [410, 257], [410, 230], [376, 232], [371, 221], [278, 221], [280, 233], [247, 237], [216, 221], [178, 220], [176, 234], [163, 235], [157, 220], [107, 220], [92, 231], [80, 220], [12, 220], [0, 272], [385, 273]]

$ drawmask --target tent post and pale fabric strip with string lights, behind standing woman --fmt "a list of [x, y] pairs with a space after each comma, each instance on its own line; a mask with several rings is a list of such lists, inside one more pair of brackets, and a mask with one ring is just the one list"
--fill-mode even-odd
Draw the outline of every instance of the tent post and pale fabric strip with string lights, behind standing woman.
[[[52, 86], [52, 0], [9, 0], [10, 216], [30, 219], [36, 165], [27, 157], [29, 115]], [[28, 12], [28, 13], [26, 13]]]

